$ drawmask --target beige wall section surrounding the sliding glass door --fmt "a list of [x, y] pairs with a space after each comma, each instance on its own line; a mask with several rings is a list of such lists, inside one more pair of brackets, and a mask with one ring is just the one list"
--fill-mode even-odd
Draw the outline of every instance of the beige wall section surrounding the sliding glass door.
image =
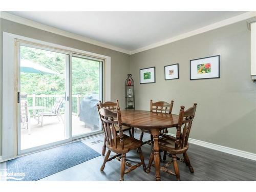
[[[124, 81], [127, 74], [130, 73], [130, 55], [121, 53], [118, 51], [113, 51], [110, 49], [102, 48], [86, 42], [71, 39], [68, 37], [53, 34], [47, 31], [42, 31], [25, 25], [10, 22], [9, 20], [1, 19], [1, 42], [2, 42], [2, 32], [13, 33], [17, 35], [22, 35], [30, 38], [35, 38], [42, 41], [52, 42], [54, 44], [67, 46], [75, 49], [80, 49], [84, 51], [89, 51], [93, 53], [98, 53], [111, 57], [111, 100], [115, 101], [119, 99], [121, 108], [124, 108]], [[2, 48], [2, 45], [1, 45]], [[1, 94], [2, 94], [2, 51], [1, 51]], [[2, 98], [2, 96], [1, 96]], [[1, 100], [2, 101], [2, 100]], [[2, 103], [0, 104], [0, 109], [2, 111]], [[0, 136], [2, 133], [2, 115], [0, 118], [1, 129]], [[0, 145], [2, 136], [0, 137]], [[2, 147], [0, 146], [0, 155], [2, 154]]]

